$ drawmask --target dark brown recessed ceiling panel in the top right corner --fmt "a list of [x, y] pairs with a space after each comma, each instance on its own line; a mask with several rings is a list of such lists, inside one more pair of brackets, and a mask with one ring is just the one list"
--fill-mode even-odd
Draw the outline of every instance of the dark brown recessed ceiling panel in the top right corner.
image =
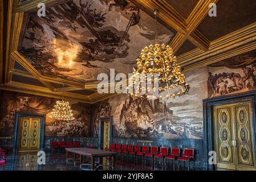
[[213, 41], [256, 22], [255, 12], [255, 0], [218, 1], [217, 16], [206, 16], [197, 30], [210, 41]]

